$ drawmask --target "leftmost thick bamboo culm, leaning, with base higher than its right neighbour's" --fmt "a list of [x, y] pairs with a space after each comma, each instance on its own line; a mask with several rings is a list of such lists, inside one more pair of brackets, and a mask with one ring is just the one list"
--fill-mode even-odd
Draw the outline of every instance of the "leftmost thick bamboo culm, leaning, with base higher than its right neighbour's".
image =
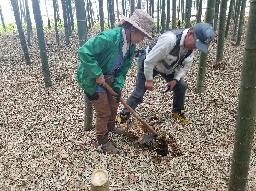
[[26, 62], [27, 65], [30, 65], [31, 61], [30, 61], [30, 57], [29, 57], [29, 53], [28, 53], [28, 47], [27, 47], [24, 32], [22, 30], [22, 24], [21, 24], [21, 21], [20, 21], [18, 6], [17, 6], [15, 0], [11, 0], [11, 6], [13, 7], [13, 10], [14, 10], [15, 22], [16, 22], [16, 25], [17, 25], [18, 33], [19, 33], [19, 39], [20, 39], [23, 54], [24, 54], [24, 57], [25, 57], [25, 62]]

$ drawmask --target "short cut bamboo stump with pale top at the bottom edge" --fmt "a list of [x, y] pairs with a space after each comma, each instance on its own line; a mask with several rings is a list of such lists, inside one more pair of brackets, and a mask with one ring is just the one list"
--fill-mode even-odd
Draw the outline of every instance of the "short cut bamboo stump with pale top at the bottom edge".
[[103, 169], [92, 172], [91, 191], [109, 191], [109, 175]]

